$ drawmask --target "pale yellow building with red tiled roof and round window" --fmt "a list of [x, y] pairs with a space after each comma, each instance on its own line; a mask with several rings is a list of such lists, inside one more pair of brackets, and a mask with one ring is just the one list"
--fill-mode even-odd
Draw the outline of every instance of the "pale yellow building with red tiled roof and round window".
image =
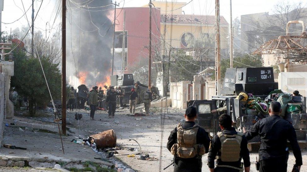
[[[185, 14], [182, 11], [183, 2], [162, 2], [154, 1], [153, 6], [160, 9], [160, 32], [164, 37], [168, 48], [187, 48], [185, 37], [187, 35], [199, 38], [205, 34], [209, 39], [215, 40], [215, 15], [194, 15]], [[145, 5], [148, 7], [148, 5]], [[228, 23], [223, 16], [220, 16], [221, 50], [228, 54]], [[211, 38], [212, 37], [212, 38]], [[161, 43], [162, 44], [162, 43]]]

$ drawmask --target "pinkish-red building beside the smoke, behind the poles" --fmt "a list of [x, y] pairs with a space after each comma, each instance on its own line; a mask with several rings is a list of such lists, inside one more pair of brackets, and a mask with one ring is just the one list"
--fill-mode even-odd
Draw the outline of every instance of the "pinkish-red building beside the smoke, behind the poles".
[[[110, 11], [110, 20], [114, 19]], [[123, 25], [125, 19], [125, 62], [122, 61]], [[131, 7], [116, 9], [114, 74], [131, 73], [135, 65], [148, 61], [149, 56], [149, 8]], [[152, 48], [160, 39], [160, 10], [152, 8]], [[153, 52], [153, 50], [152, 50]], [[153, 55], [153, 54], [152, 54]], [[122, 70], [124, 69], [124, 71]]]

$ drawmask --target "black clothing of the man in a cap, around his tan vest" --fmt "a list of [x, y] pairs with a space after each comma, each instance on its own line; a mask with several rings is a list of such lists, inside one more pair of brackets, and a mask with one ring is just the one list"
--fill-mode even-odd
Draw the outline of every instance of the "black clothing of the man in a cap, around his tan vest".
[[[195, 122], [186, 121], [182, 123], [182, 128], [187, 129], [195, 125]], [[196, 135], [197, 144], [204, 144], [206, 153], [208, 153], [210, 138], [204, 128], [198, 128]], [[167, 142], [167, 149], [170, 151], [173, 144], [177, 143], [177, 127], [170, 133], [170, 137]], [[202, 162], [197, 156], [194, 158], [174, 158], [174, 172], [201, 172]]]

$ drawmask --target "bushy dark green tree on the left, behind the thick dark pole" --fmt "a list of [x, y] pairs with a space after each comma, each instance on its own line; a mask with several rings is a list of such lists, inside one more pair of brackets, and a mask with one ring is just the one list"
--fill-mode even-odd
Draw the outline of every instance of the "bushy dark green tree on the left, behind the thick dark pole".
[[[39, 59], [27, 56], [25, 50], [19, 48], [15, 49], [13, 54], [14, 76], [11, 87], [14, 87], [20, 96], [28, 98], [29, 113], [35, 114], [36, 107], [44, 107], [51, 100]], [[61, 96], [59, 64], [52, 63], [48, 56], [41, 57], [41, 62], [53, 99], [59, 99]]]

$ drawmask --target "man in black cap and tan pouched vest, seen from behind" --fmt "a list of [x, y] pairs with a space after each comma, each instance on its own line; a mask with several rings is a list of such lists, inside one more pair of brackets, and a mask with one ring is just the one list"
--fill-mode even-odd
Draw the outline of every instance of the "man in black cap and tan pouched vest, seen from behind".
[[184, 118], [186, 122], [178, 124], [167, 142], [167, 149], [174, 155], [174, 172], [201, 172], [202, 155], [208, 153], [210, 138], [195, 123], [195, 107], [187, 107]]

